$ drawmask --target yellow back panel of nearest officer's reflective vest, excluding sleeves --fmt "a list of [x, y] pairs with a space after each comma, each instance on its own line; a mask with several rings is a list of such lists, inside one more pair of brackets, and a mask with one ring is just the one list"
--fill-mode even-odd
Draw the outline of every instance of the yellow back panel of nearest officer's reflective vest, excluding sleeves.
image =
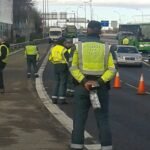
[[102, 75], [108, 68], [108, 44], [97, 42], [80, 42], [78, 43], [78, 53], [79, 69], [83, 74]]

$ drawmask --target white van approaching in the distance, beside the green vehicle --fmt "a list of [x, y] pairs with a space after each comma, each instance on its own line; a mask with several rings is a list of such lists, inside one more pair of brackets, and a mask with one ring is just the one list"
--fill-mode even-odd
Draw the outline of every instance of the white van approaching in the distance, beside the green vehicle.
[[60, 37], [62, 37], [62, 29], [60, 27], [50, 27], [49, 42], [55, 42]]

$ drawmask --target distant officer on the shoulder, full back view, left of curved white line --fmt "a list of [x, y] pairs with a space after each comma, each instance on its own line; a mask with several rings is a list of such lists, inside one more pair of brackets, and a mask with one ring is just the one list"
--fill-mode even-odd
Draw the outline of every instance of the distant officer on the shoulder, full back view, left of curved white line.
[[34, 69], [34, 77], [38, 77], [37, 61], [39, 60], [39, 52], [34, 42], [25, 46], [25, 56], [27, 58], [27, 78], [31, 77], [31, 67]]

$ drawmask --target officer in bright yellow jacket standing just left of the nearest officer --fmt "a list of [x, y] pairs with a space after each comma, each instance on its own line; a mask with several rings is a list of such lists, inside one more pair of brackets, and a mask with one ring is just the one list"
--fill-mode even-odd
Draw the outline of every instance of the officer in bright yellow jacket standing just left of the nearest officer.
[[52, 92], [52, 102], [57, 104], [58, 100], [61, 104], [66, 102], [66, 88], [68, 77], [67, 58], [68, 52], [64, 47], [65, 38], [59, 38], [54, 46], [50, 49], [49, 61], [54, 67], [55, 84]]

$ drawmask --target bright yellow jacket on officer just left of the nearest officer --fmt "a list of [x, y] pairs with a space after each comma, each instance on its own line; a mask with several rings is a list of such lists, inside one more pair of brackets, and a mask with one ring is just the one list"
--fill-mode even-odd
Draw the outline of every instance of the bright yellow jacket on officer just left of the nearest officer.
[[64, 46], [56, 45], [50, 49], [49, 61], [53, 64], [67, 63], [64, 53], [67, 52], [67, 49]]

